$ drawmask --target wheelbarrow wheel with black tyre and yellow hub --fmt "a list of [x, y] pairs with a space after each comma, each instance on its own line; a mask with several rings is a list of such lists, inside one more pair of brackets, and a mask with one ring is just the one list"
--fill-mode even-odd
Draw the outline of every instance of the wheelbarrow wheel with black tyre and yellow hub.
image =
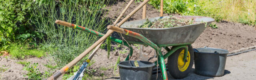
[[188, 55], [185, 62], [183, 61], [184, 51], [185, 48], [180, 48], [168, 57], [168, 70], [173, 78], [185, 78], [192, 69], [194, 62], [193, 48], [191, 45], [188, 45]]

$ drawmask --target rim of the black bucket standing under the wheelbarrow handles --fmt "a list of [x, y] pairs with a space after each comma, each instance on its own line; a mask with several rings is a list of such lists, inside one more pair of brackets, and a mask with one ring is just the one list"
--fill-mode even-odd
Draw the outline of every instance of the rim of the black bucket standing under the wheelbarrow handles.
[[[135, 60], [130, 60], [130, 61], [135, 61]], [[130, 62], [130, 61], [122, 61], [122, 62]], [[141, 60], [137, 60], [137, 61], [148, 62], [148, 61], [141, 61]], [[122, 65], [122, 64], [120, 64], [120, 62], [117, 65], [121, 66], [121, 67], [125, 67], [125, 68], [149, 68], [149, 67], [155, 66], [155, 63], [152, 63], [152, 62], [149, 62], [149, 63], [151, 63], [151, 64], [149, 64], [147, 66], [139, 66], [139, 67]]]

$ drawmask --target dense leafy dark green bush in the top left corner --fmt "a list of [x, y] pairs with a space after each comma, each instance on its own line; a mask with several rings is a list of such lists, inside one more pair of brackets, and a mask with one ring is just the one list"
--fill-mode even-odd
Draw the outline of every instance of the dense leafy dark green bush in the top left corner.
[[0, 50], [15, 40], [36, 37], [29, 22], [32, 0], [0, 0], [0, 4]]

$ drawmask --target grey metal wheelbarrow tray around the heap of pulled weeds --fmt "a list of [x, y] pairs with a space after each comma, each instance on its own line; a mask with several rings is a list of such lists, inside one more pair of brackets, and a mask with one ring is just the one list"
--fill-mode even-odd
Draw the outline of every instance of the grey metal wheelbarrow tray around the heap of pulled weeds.
[[[168, 18], [165, 17], [154, 17], [149, 18], [148, 20], [154, 21], [159, 18]], [[142, 34], [146, 38], [148, 38], [153, 43], [158, 46], [174, 46], [179, 44], [192, 44], [200, 34], [204, 31], [205, 24], [207, 26], [214, 22], [213, 18], [204, 17], [204, 16], [174, 16], [176, 18], [185, 18], [188, 20], [194, 20], [193, 24], [173, 27], [173, 28], [136, 28], [146, 22], [146, 20], [134, 20], [130, 22], [125, 22], [122, 24], [121, 28], [131, 30]], [[128, 43], [133, 44], [144, 44], [141, 40], [137, 38], [133, 38], [131, 36], [122, 35], [124, 39], [128, 41]]]

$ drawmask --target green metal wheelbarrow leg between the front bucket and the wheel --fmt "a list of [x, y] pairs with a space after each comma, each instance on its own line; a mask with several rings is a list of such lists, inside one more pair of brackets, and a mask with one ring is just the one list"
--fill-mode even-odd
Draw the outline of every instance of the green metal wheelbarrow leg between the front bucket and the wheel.
[[162, 55], [161, 50], [158, 50], [158, 64], [161, 68], [163, 80], [168, 80], [166, 66], [165, 66], [165, 62], [164, 62], [164, 56]]

